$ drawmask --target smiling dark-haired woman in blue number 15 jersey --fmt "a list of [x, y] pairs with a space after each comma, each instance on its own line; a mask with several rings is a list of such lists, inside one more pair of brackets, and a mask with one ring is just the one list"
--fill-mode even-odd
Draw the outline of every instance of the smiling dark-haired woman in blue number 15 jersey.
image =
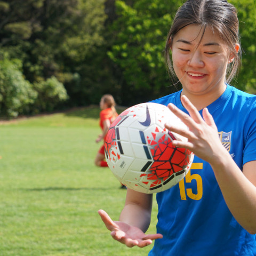
[[[172, 61], [169, 52], [172, 52]], [[166, 59], [183, 89], [154, 100], [189, 127], [173, 145], [195, 153], [186, 177], [157, 194], [158, 234], [146, 235], [152, 196], [127, 189], [119, 221], [99, 211], [111, 236], [149, 255], [256, 255], [256, 97], [228, 82], [239, 67], [237, 12], [221, 0], [188, 0], [178, 10]], [[162, 239], [158, 239], [162, 238]]]

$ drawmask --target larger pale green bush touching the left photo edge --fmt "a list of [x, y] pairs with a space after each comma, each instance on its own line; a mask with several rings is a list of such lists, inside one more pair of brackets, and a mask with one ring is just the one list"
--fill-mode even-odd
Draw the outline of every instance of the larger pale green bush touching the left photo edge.
[[0, 111], [7, 117], [28, 113], [37, 97], [31, 84], [24, 79], [21, 61], [0, 60]]

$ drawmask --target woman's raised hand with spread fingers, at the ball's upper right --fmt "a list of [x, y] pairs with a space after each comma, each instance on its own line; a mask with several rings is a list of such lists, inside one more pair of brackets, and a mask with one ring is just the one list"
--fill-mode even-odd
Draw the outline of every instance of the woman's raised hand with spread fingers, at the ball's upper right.
[[174, 140], [173, 146], [187, 148], [210, 164], [214, 163], [219, 159], [218, 154], [221, 154], [222, 150], [225, 148], [222, 146], [219, 139], [217, 126], [214, 123], [212, 115], [207, 108], [204, 108], [202, 118], [196, 107], [185, 95], [181, 96], [181, 102], [188, 110], [189, 115], [172, 103], [170, 103], [168, 107], [173, 114], [179, 117], [181, 121], [188, 126], [188, 130], [170, 124], [165, 124], [165, 127], [171, 132], [186, 137], [188, 141]]

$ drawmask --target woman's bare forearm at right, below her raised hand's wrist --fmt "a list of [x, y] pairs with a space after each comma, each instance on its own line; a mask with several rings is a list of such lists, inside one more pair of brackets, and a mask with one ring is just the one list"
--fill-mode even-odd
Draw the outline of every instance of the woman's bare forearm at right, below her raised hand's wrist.
[[[226, 149], [225, 149], [226, 150]], [[222, 195], [234, 218], [249, 233], [256, 233], [256, 187], [239, 169], [227, 151], [211, 164]]]

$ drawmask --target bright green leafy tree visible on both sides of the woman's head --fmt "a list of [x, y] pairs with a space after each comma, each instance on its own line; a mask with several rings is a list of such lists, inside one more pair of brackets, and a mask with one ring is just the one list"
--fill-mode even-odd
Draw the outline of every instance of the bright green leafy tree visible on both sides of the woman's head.
[[[118, 18], [110, 27], [113, 45], [108, 55], [123, 77], [121, 98], [125, 105], [161, 97], [176, 90], [167, 78], [162, 52], [172, 17], [182, 2], [138, 0], [129, 5], [127, 1], [116, 1]], [[233, 85], [255, 93], [256, 7], [254, 0], [230, 2], [238, 9], [244, 51], [242, 69]]]

